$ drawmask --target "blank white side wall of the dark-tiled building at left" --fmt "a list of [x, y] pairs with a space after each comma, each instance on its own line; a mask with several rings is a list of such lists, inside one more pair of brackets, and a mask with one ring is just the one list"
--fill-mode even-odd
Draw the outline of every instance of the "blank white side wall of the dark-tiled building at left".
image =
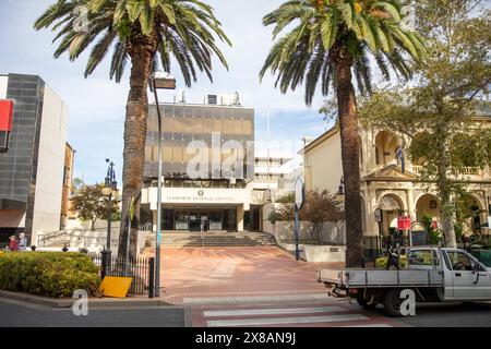
[[39, 232], [60, 228], [68, 107], [45, 87], [34, 202], [33, 241]]

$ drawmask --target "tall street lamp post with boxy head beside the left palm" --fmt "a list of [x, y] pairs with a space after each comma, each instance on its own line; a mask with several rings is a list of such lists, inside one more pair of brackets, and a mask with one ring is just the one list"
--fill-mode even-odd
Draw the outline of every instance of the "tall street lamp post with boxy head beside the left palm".
[[160, 297], [160, 243], [161, 243], [161, 113], [157, 89], [176, 89], [176, 79], [169, 73], [156, 72], [152, 75], [151, 86], [155, 96], [158, 116], [158, 184], [157, 184], [157, 237], [155, 249], [155, 297]]

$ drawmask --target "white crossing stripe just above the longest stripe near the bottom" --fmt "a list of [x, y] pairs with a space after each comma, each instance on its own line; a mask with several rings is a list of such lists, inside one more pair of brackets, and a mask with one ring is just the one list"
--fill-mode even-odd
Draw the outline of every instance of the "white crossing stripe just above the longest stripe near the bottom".
[[205, 311], [206, 317], [217, 316], [247, 316], [247, 315], [282, 315], [282, 314], [309, 314], [309, 313], [334, 313], [346, 312], [347, 310], [340, 306], [325, 306], [325, 308], [295, 308], [295, 309], [246, 309], [246, 310], [216, 310]]

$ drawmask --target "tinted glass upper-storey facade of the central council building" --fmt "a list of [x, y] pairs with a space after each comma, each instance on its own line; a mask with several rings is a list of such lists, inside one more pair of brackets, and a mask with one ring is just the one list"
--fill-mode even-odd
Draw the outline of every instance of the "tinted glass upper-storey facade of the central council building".
[[[232, 188], [243, 188], [253, 179], [253, 109], [176, 104], [161, 105], [160, 110], [167, 188], [230, 188], [230, 171], [237, 179]], [[151, 106], [144, 172], [147, 186], [154, 186], [157, 179], [157, 110]]]

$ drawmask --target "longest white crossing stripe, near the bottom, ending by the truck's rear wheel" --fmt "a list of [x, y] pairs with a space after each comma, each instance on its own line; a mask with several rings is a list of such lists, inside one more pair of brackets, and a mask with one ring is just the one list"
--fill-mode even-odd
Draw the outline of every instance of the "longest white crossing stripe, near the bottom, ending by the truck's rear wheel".
[[209, 327], [230, 326], [261, 326], [261, 325], [288, 325], [288, 324], [315, 324], [334, 323], [346, 321], [367, 321], [367, 316], [360, 314], [327, 315], [327, 316], [304, 316], [304, 317], [265, 317], [265, 318], [240, 318], [240, 320], [217, 320], [207, 321]]

